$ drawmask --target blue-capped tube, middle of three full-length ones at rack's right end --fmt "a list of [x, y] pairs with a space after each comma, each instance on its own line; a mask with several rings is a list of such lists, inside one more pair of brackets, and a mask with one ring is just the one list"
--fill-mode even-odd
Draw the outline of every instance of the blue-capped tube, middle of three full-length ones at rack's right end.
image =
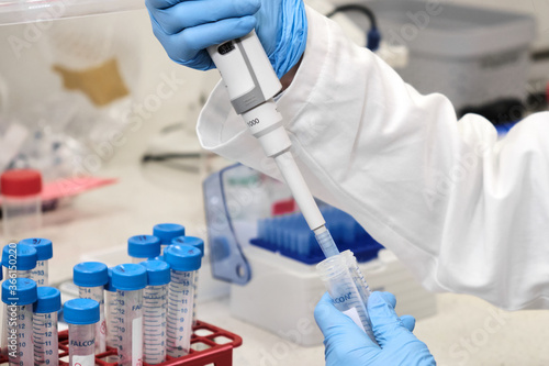
[[147, 287], [143, 290], [143, 361], [150, 365], [166, 361], [166, 314], [170, 266], [163, 260], [141, 263], [147, 269]]

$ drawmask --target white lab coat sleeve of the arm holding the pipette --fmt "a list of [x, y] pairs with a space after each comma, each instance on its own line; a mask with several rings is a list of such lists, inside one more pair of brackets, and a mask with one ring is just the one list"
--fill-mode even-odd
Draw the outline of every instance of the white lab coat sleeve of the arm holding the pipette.
[[[549, 113], [503, 140], [457, 121], [337, 24], [307, 9], [307, 47], [278, 100], [313, 195], [352, 214], [436, 291], [504, 309], [549, 308]], [[202, 145], [279, 177], [224, 87], [198, 125]]]

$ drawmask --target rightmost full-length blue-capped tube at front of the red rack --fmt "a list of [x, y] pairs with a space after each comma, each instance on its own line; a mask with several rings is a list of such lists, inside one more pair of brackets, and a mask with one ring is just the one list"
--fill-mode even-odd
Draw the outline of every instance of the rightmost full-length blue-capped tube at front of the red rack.
[[171, 267], [168, 296], [167, 354], [181, 357], [190, 352], [194, 273], [200, 268], [202, 253], [190, 245], [170, 245], [165, 259]]

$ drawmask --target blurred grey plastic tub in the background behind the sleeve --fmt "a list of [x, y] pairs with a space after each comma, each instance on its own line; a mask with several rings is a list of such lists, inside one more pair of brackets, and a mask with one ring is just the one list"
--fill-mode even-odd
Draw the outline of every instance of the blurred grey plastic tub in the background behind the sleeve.
[[[524, 100], [534, 18], [444, 1], [363, 1], [378, 16], [382, 40], [405, 45], [402, 78], [422, 93], [440, 92], [456, 110], [500, 98]], [[365, 20], [349, 16], [361, 26]]]

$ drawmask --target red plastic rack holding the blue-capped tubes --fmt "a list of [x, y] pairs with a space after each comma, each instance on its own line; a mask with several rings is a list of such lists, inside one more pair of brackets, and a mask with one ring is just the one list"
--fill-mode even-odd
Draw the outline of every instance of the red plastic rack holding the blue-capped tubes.
[[[233, 365], [233, 348], [242, 345], [242, 337], [227, 332], [215, 325], [197, 321], [192, 328], [191, 353], [187, 356], [172, 358], [167, 356], [167, 361], [158, 364], [161, 366], [204, 366], [214, 364], [215, 366]], [[198, 333], [198, 334], [197, 334]], [[116, 350], [108, 347], [105, 353], [96, 356], [96, 365], [116, 366], [116, 363], [109, 363], [109, 356], [115, 356]], [[64, 359], [63, 359], [64, 358]], [[8, 364], [8, 357], [0, 356], [0, 364]], [[59, 333], [59, 366], [68, 365], [68, 332]], [[144, 363], [145, 366], [148, 364]], [[157, 365], [157, 366], [158, 366]]]

